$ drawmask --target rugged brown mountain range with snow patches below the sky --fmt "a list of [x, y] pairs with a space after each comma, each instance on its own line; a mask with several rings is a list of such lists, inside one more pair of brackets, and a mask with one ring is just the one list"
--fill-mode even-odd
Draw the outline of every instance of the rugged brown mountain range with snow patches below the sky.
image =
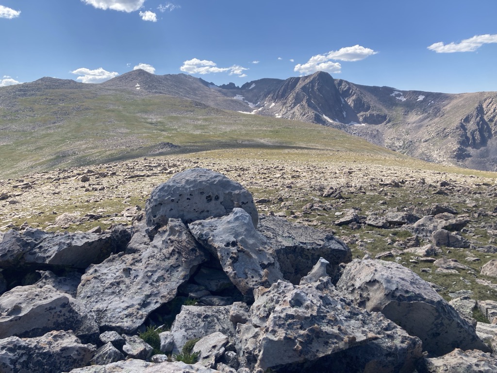
[[[49, 96], [45, 94], [47, 90], [51, 91]], [[30, 115], [25, 107], [19, 107], [19, 98], [34, 99], [36, 104], [30, 110], [36, 111], [43, 105], [60, 104], [68, 95], [76, 97], [71, 110], [62, 109], [61, 105], [57, 112], [51, 110], [50, 115], [55, 118], [51, 119], [52, 124], [64, 122], [78, 110], [92, 110], [87, 105], [78, 108], [78, 97], [83, 100], [115, 95], [130, 102], [169, 95], [206, 105], [213, 115], [216, 114], [212, 110], [223, 109], [317, 123], [421, 160], [497, 171], [497, 92], [402, 91], [357, 85], [333, 79], [324, 72], [286, 80], [260, 79], [241, 87], [233, 83], [216, 86], [185, 74], [160, 76], [134, 70], [100, 84], [42, 78], [2, 87], [2, 129], [11, 129], [16, 120]], [[157, 110], [156, 116], [160, 117], [160, 108]], [[147, 115], [155, 116], [150, 112]], [[35, 126], [46, 125], [40, 119]], [[33, 121], [29, 123], [33, 125]]]

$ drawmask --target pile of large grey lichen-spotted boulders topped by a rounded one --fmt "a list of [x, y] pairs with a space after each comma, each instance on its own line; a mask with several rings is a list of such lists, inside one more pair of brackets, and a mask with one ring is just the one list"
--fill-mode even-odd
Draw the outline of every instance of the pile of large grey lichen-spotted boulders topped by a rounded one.
[[[401, 265], [351, 259], [331, 233], [259, 216], [240, 184], [187, 170], [130, 228], [0, 235], [0, 372], [497, 369], [479, 338], [493, 329], [477, 334]], [[138, 337], [154, 329], [156, 345]]]

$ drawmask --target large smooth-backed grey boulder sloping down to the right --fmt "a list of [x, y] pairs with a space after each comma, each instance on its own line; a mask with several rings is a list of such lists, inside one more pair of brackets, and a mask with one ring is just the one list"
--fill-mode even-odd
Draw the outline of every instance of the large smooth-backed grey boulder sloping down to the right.
[[474, 327], [428, 282], [397, 263], [353, 260], [336, 288], [354, 304], [382, 312], [410, 335], [419, 337], [423, 349], [432, 356], [454, 348], [489, 351]]

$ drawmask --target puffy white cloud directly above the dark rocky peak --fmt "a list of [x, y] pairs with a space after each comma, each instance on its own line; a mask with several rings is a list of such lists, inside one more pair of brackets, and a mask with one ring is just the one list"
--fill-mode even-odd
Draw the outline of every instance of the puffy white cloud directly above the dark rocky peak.
[[361, 61], [366, 57], [377, 53], [378, 52], [375, 52], [373, 49], [365, 48], [360, 45], [354, 45], [352, 47], [340, 48], [337, 51], [331, 51], [326, 54], [317, 54], [316, 56], [312, 56], [305, 64], [295, 65], [293, 70], [301, 74], [312, 74], [317, 71], [341, 73], [340, 63], [334, 61]]

